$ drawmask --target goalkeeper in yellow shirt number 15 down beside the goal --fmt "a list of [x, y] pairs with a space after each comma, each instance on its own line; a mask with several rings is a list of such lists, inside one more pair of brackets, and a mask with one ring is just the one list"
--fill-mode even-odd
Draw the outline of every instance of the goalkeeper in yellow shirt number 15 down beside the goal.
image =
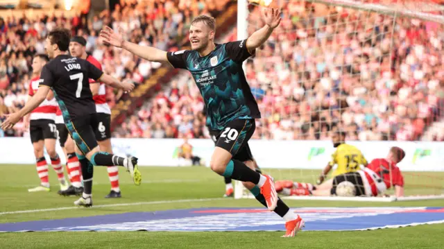
[[[316, 181], [316, 188], [318, 190], [331, 189], [333, 178], [336, 175], [356, 172], [361, 169], [360, 165], [367, 165], [366, 158], [364, 155], [362, 155], [358, 148], [350, 144], [345, 144], [345, 132], [334, 132], [332, 135], [332, 142], [334, 148], [336, 148], [336, 151], [334, 151], [332, 154], [332, 161], [328, 162], [327, 166], [325, 166], [325, 169], [323, 169], [321, 175]], [[333, 171], [332, 178], [324, 182], [326, 176], [335, 165], [337, 166]]]

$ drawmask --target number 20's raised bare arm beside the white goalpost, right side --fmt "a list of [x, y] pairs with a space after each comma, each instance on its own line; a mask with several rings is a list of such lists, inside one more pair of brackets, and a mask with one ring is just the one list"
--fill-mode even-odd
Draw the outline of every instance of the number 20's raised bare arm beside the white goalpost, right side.
[[265, 26], [255, 31], [247, 39], [246, 45], [249, 52], [255, 51], [255, 49], [264, 44], [271, 33], [273, 33], [273, 30], [280, 24], [280, 10], [266, 8], [263, 15]]

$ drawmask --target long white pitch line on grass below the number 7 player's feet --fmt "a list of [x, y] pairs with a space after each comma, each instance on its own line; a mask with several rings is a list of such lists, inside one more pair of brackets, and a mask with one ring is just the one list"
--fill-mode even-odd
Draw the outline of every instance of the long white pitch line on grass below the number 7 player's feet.
[[[185, 200], [157, 200], [157, 201], [147, 201], [143, 203], [117, 203], [117, 204], [105, 204], [105, 205], [94, 205], [90, 208], [97, 207], [121, 207], [121, 206], [136, 206], [136, 205], [155, 205], [155, 204], [166, 204], [166, 203], [194, 203], [194, 202], [205, 202], [210, 200], [223, 200], [225, 198], [206, 198], [206, 199], [185, 199]], [[1, 212], [0, 215], [4, 214], [26, 214], [26, 213], [38, 213], [46, 211], [60, 211], [69, 209], [78, 209], [79, 207], [58, 207], [58, 208], [47, 208], [47, 209], [30, 209], [21, 211], [10, 211]]]

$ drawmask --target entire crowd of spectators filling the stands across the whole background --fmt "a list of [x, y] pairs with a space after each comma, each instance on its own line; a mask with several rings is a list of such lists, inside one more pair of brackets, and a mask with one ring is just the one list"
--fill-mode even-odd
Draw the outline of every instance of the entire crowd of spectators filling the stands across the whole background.
[[[123, 28], [132, 42], [176, 49], [187, 39], [192, 17], [216, 15], [227, 2], [130, 0], [89, 22], [47, 16], [0, 20], [0, 117], [24, 105], [31, 57], [44, 53], [44, 37], [53, 26], [85, 35], [88, 51], [107, 73], [141, 83], [160, 65], [101, 45], [97, 33], [103, 25]], [[246, 63], [262, 112], [253, 138], [329, 139], [340, 129], [348, 140], [420, 139], [443, 116], [443, 25], [398, 17], [393, 26], [391, 17], [339, 7], [318, 15], [316, 8], [287, 3], [280, 26]], [[248, 22], [250, 34], [264, 24], [258, 8], [250, 8]], [[234, 29], [228, 40], [235, 38]], [[121, 94], [110, 90], [110, 104]], [[208, 137], [205, 120], [198, 88], [183, 72], [113, 135], [202, 138]], [[444, 141], [444, 130], [437, 130], [432, 139]], [[17, 124], [6, 135], [23, 132]]]

